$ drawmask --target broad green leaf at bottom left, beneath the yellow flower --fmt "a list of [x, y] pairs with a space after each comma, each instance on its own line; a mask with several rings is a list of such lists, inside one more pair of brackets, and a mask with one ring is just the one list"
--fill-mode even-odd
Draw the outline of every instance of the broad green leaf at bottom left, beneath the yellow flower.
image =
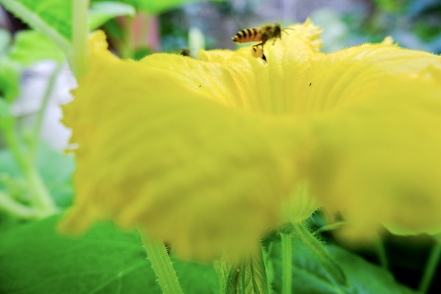
[[[58, 220], [2, 232], [0, 293], [162, 293], [138, 234], [99, 224], [72, 239], [55, 231]], [[218, 293], [211, 266], [174, 265], [185, 293]]]

